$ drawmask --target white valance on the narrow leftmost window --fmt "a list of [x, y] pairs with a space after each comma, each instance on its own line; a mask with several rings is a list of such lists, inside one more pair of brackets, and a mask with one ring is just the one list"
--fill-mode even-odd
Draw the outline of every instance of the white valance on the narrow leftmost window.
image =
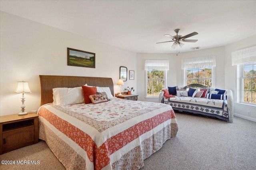
[[169, 70], [169, 60], [145, 60], [145, 70], [148, 69]]

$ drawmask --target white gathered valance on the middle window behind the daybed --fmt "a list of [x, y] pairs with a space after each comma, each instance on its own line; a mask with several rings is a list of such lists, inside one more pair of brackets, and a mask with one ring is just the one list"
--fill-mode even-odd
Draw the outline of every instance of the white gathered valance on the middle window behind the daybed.
[[216, 66], [214, 55], [182, 59], [182, 69]]

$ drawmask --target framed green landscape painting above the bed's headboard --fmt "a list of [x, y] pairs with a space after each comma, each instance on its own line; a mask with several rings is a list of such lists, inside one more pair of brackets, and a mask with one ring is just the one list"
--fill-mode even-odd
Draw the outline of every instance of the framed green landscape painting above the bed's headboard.
[[95, 53], [68, 48], [68, 66], [95, 68]]

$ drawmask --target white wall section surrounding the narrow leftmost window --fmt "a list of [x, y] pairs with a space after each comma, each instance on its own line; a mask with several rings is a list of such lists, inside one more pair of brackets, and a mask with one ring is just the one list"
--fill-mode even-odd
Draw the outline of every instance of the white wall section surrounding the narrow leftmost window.
[[169, 60], [169, 71], [167, 72], [167, 86], [176, 86], [176, 54], [137, 53], [137, 88], [138, 100], [147, 102], [158, 102], [158, 98], [145, 98], [145, 60]]

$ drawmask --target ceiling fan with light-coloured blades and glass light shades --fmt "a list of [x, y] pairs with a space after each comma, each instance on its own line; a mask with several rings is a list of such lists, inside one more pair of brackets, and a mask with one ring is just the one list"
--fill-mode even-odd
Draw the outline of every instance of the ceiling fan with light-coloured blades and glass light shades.
[[196, 41], [198, 41], [197, 39], [186, 39], [188, 37], [197, 35], [198, 34], [197, 32], [192, 32], [188, 35], [182, 36], [182, 35], [178, 35], [178, 32], [180, 31], [180, 29], [175, 29], [174, 31], [177, 33], [177, 35], [175, 35], [173, 37], [169, 34], [164, 35], [164, 36], [172, 39], [172, 41], [164, 41], [164, 42], [160, 42], [160, 43], [174, 42], [172, 44], [172, 48], [175, 49], [178, 45], [180, 46], [180, 48], [183, 47], [184, 43], [182, 43], [182, 42], [195, 43]]

